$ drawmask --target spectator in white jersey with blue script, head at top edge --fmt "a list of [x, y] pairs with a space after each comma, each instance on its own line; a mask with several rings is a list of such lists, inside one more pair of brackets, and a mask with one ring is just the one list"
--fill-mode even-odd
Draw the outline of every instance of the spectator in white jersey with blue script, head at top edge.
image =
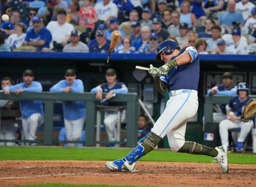
[[100, 3], [96, 3], [94, 9], [97, 13], [97, 17], [101, 22], [104, 22], [104, 24], [108, 25], [110, 19], [117, 18], [117, 6], [110, 0], [103, 0]]

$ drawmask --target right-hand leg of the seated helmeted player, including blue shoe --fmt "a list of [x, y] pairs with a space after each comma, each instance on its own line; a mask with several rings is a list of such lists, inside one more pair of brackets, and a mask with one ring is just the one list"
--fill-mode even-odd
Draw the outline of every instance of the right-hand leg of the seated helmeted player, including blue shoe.
[[239, 123], [239, 126], [241, 127], [241, 130], [240, 130], [239, 137], [237, 139], [236, 151], [238, 151], [238, 152], [243, 151], [244, 140], [248, 136], [248, 134], [250, 133], [251, 128], [253, 127], [253, 125], [254, 125], [253, 121], [250, 121], [250, 122], [247, 122], [247, 123], [244, 123], [244, 122]]

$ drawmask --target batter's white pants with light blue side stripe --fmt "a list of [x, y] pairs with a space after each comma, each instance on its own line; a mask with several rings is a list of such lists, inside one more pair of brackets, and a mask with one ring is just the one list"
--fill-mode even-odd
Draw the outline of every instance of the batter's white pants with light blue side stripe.
[[196, 90], [171, 91], [172, 96], [166, 103], [163, 114], [156, 121], [151, 132], [161, 138], [167, 135], [172, 151], [179, 151], [185, 143], [188, 119], [192, 118], [198, 108]]

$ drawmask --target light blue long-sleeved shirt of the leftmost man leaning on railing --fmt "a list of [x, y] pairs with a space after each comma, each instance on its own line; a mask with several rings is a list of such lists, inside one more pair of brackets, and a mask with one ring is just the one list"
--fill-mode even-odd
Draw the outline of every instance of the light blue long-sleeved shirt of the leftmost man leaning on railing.
[[[16, 84], [13, 86], [6, 86], [4, 90], [15, 91], [16, 89], [23, 89], [30, 92], [41, 92], [43, 90], [41, 83], [32, 81], [30, 87], [26, 87], [25, 83]], [[41, 100], [20, 100], [20, 112], [22, 119], [28, 119], [34, 113], [44, 114], [43, 101]]]

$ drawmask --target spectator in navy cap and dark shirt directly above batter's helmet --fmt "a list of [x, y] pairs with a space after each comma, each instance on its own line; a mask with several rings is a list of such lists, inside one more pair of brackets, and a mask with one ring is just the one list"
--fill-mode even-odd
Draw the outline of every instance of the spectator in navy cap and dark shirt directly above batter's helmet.
[[166, 29], [162, 28], [161, 18], [159, 17], [153, 18], [152, 22], [153, 22], [152, 32], [156, 32], [156, 34], [158, 34], [158, 37], [159, 37], [158, 40], [161, 43], [162, 41], [166, 40], [170, 36], [170, 34]]

